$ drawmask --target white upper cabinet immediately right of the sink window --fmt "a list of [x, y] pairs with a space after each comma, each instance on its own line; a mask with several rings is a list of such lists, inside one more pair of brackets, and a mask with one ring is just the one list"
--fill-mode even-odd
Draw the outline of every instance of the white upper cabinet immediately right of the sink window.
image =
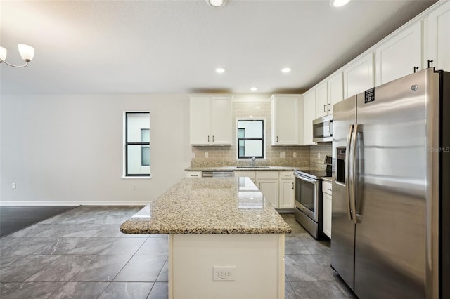
[[271, 145], [299, 144], [299, 99], [300, 95], [271, 96]]

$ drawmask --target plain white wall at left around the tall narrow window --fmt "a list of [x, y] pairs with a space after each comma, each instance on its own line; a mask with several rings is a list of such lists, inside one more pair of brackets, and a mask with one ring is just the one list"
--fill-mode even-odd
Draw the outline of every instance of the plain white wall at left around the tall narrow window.
[[[148, 204], [190, 164], [188, 104], [185, 94], [1, 95], [0, 204]], [[122, 178], [124, 111], [150, 112], [152, 178]]]

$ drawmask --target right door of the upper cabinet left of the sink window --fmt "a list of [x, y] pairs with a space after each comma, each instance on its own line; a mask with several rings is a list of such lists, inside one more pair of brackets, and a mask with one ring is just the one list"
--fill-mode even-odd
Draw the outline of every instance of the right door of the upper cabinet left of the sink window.
[[211, 98], [211, 131], [212, 145], [231, 145], [231, 98]]

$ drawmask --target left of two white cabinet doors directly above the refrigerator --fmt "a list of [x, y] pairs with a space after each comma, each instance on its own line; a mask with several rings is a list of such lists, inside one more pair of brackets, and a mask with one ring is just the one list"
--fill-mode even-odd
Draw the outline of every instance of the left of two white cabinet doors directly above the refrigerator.
[[402, 29], [375, 48], [376, 82], [379, 86], [422, 69], [422, 24]]

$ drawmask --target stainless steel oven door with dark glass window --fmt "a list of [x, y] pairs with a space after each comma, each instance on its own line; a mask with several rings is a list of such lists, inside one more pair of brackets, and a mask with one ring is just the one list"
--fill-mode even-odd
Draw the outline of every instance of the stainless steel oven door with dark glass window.
[[319, 180], [295, 175], [295, 208], [318, 222]]

